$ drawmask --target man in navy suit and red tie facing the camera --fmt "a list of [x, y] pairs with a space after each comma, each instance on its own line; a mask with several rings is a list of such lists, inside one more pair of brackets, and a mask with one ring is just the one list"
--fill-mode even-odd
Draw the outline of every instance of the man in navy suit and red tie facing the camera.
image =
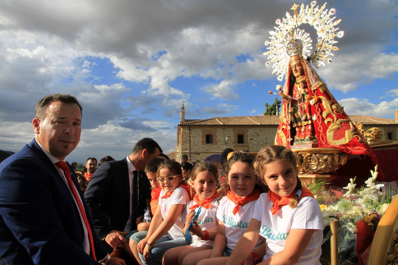
[[81, 119], [75, 97], [44, 97], [32, 121], [35, 139], [0, 164], [0, 261], [125, 264], [98, 239], [76, 174], [65, 162], [80, 141]]

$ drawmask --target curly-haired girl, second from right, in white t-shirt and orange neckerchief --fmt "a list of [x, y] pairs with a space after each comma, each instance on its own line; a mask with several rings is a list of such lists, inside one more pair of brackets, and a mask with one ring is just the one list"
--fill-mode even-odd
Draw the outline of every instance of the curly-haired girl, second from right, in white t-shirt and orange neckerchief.
[[[219, 226], [213, 250], [189, 254], [185, 257], [183, 265], [196, 264], [195, 262], [201, 259], [198, 265], [225, 264], [228, 260], [239, 238], [248, 227], [256, 200], [265, 191], [254, 173], [253, 162], [254, 155], [243, 152], [236, 152], [228, 159], [226, 164], [228, 177], [221, 184], [219, 191], [220, 196], [225, 196], [219, 200], [220, 205], [217, 210]], [[262, 256], [262, 248], [265, 247], [263, 240], [258, 239], [253, 243], [250, 252], [255, 250], [256, 255]], [[206, 257], [209, 259], [204, 259]]]

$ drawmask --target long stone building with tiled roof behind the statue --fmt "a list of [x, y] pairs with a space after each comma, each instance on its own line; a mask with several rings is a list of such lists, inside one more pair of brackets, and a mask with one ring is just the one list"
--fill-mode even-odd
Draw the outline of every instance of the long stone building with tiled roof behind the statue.
[[[363, 124], [365, 131], [372, 127], [380, 128], [382, 139], [398, 140], [398, 110], [395, 111], [395, 120], [363, 115], [349, 117], [353, 122]], [[188, 120], [182, 104], [176, 151], [170, 158], [180, 162], [181, 155], [186, 154], [188, 161], [203, 161], [210, 155], [221, 154], [226, 148], [258, 152], [264, 146], [274, 144], [278, 125], [279, 115]]]

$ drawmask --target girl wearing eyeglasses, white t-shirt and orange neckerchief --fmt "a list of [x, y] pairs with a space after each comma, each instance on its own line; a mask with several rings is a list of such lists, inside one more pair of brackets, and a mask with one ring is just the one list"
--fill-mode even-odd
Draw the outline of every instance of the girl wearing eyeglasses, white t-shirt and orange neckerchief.
[[152, 217], [148, 234], [137, 245], [144, 265], [162, 264], [164, 252], [188, 244], [182, 228], [186, 217], [183, 210], [190, 201], [190, 190], [187, 182], [183, 181], [180, 164], [170, 160], [162, 163], [158, 168], [157, 181], [162, 188], [159, 205]]

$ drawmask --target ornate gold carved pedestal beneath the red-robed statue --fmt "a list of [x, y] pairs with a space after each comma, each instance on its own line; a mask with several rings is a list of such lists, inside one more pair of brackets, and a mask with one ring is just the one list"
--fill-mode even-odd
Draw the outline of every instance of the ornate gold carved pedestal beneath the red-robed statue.
[[[322, 152], [324, 149], [324, 152]], [[335, 148], [294, 150], [300, 174], [330, 174], [347, 162], [348, 155]]]

